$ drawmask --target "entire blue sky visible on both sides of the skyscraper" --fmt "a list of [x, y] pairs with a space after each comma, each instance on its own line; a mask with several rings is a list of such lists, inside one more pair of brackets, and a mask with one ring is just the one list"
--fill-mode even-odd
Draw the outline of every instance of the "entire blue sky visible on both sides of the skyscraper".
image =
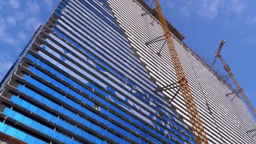
[[[0, 79], [59, 0], [0, 0]], [[164, 13], [205, 61], [226, 39], [222, 55], [256, 107], [256, 1], [160, 0]], [[218, 61], [215, 67], [223, 71]]]

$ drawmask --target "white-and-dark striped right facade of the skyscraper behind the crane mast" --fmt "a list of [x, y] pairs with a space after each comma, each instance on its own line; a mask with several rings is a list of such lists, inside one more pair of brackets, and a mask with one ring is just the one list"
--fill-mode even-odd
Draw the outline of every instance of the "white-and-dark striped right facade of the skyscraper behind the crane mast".
[[[132, 49], [146, 65], [156, 84], [159, 87], [164, 87], [177, 82], [167, 45], [164, 45], [160, 55], [157, 54], [164, 41], [147, 44], [164, 35], [157, 16], [155, 16], [155, 11], [144, 3], [148, 2], [150, 5], [152, 1], [109, 0], [108, 2], [119, 26], [129, 39]], [[256, 143], [256, 132], [248, 133], [249, 130], [256, 128], [256, 124], [242, 100], [235, 95], [226, 96], [234, 90], [182, 42], [184, 37], [175, 28], [170, 26], [170, 31], [174, 34], [173, 40], [209, 142]], [[176, 92], [176, 89], [165, 91], [166, 99], [171, 99]], [[182, 115], [184, 122], [189, 125], [181, 93], [172, 101], [171, 106], [179, 115]]]

